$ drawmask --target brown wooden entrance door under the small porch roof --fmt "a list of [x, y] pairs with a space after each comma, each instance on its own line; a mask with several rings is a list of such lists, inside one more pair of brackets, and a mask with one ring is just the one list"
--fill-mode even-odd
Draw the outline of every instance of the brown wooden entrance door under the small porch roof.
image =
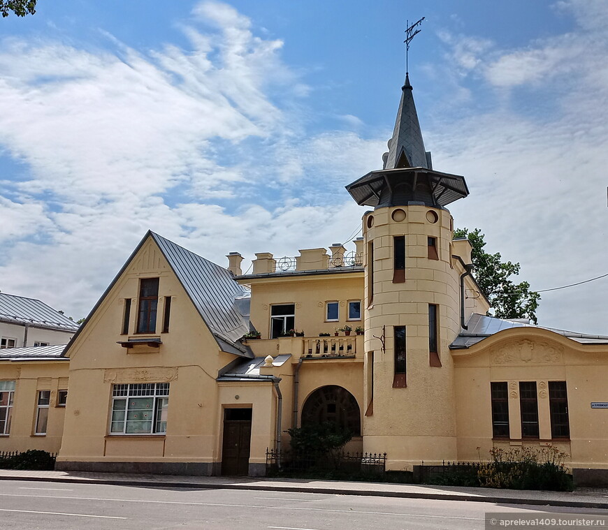
[[222, 475], [249, 474], [251, 418], [251, 408], [224, 409]]

